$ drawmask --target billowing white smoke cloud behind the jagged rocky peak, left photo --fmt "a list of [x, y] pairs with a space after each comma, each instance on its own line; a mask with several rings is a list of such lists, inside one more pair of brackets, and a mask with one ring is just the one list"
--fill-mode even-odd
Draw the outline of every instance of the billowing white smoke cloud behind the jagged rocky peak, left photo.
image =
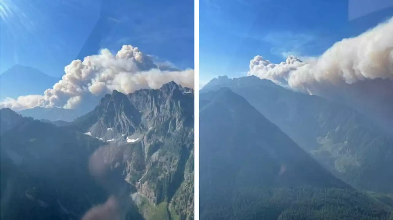
[[160, 88], [170, 81], [194, 88], [194, 70], [177, 70], [165, 64], [157, 66], [151, 56], [131, 45], [124, 45], [116, 55], [103, 49], [100, 54], [87, 56], [83, 61], [74, 60], [64, 71], [62, 79], [44, 95], [7, 98], [0, 103], [0, 108], [76, 108], [91, 95], [103, 96], [114, 89], [129, 94], [141, 88]]

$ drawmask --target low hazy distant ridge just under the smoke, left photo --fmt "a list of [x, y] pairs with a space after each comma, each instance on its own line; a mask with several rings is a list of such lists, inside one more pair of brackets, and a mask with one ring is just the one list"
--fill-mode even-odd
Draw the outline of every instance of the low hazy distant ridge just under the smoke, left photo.
[[[88, 111], [86, 111], [88, 112]], [[35, 107], [29, 108], [26, 110], [19, 111], [18, 114], [21, 114], [25, 117], [32, 117], [37, 120], [48, 120], [48, 121], [66, 121], [71, 122], [83, 114], [86, 114], [85, 111], [75, 110], [75, 109], [66, 109], [66, 108], [42, 108]]]

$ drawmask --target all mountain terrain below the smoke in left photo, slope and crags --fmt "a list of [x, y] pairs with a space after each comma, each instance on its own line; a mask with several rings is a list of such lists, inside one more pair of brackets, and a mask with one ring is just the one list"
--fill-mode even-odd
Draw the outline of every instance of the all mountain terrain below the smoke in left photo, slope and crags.
[[193, 91], [168, 83], [114, 91], [70, 126], [33, 121], [7, 131], [3, 219], [25, 219], [22, 209], [29, 219], [80, 219], [110, 195], [121, 219], [193, 219], [193, 117]]

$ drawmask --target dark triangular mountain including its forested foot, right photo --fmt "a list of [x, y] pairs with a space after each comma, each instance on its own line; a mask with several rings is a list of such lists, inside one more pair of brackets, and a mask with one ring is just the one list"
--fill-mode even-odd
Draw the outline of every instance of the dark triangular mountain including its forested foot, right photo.
[[229, 88], [200, 94], [200, 219], [388, 219]]

